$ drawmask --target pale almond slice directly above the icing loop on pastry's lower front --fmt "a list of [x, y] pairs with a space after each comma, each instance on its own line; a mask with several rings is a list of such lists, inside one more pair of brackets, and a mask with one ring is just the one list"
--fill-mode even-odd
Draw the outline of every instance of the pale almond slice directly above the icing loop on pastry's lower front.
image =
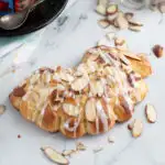
[[79, 107], [72, 103], [63, 103], [63, 110], [69, 117], [78, 117]]

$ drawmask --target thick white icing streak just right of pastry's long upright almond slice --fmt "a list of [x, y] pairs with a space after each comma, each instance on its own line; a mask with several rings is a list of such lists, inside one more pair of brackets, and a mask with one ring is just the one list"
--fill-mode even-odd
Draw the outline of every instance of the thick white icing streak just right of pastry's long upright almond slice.
[[103, 130], [105, 130], [105, 132], [107, 132], [108, 131], [108, 119], [107, 119], [107, 116], [105, 113], [103, 107], [102, 107], [100, 101], [97, 101], [96, 107], [97, 107], [97, 113], [98, 113], [98, 116], [99, 116], [99, 118], [103, 124]]

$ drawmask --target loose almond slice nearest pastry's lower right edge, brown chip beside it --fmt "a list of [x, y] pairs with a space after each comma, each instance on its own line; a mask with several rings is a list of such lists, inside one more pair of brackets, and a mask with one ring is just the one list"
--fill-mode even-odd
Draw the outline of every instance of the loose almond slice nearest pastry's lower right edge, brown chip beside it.
[[132, 128], [132, 135], [138, 138], [142, 134], [143, 131], [143, 123], [140, 119], [135, 119]]

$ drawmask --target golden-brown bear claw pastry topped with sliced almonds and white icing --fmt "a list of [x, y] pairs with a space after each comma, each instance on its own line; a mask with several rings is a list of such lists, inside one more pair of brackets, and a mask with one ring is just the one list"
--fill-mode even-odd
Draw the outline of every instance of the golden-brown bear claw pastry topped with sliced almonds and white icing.
[[97, 46], [74, 68], [41, 68], [13, 89], [10, 101], [50, 132], [68, 138], [108, 132], [132, 117], [147, 92], [143, 78], [152, 74], [144, 55], [125, 54]]

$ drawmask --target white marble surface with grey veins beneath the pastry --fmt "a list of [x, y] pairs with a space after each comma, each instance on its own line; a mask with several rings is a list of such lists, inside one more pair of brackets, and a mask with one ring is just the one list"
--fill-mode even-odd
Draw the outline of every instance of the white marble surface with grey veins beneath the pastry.
[[[133, 52], [144, 52], [153, 66], [153, 75], [146, 79], [148, 95], [140, 103], [133, 118], [143, 120], [144, 131], [141, 138], [133, 139], [127, 124], [117, 124], [110, 132], [98, 135], [86, 135], [79, 140], [69, 140], [61, 133], [50, 134], [25, 121], [10, 106], [8, 96], [12, 88], [32, 70], [40, 66], [62, 65], [72, 67], [79, 63], [82, 53], [103, 37], [109, 30], [97, 25], [100, 18], [95, 11], [95, 0], [79, 0], [48, 25], [42, 34], [40, 44], [33, 50], [28, 63], [11, 68], [16, 52], [0, 61], [0, 103], [7, 106], [7, 111], [0, 117], [0, 165], [51, 165], [41, 153], [40, 147], [51, 145], [57, 151], [74, 148], [76, 141], [84, 142], [88, 148], [69, 158], [72, 165], [165, 165], [165, 58], [157, 59], [151, 54], [154, 44], [165, 45], [165, 21], [161, 14], [150, 10], [136, 11], [136, 18], [144, 22], [142, 32], [117, 32], [127, 38]], [[127, 9], [124, 9], [127, 11]], [[37, 36], [36, 36], [37, 37]], [[18, 50], [19, 51], [19, 50]], [[25, 48], [24, 53], [30, 50]], [[23, 56], [22, 51], [22, 56]], [[12, 72], [10, 72], [12, 70]], [[144, 106], [151, 102], [157, 111], [157, 122], [148, 124], [144, 116]], [[18, 139], [18, 134], [21, 139]], [[114, 136], [114, 143], [109, 144], [108, 135]], [[92, 148], [102, 145], [103, 150], [94, 153]]]

